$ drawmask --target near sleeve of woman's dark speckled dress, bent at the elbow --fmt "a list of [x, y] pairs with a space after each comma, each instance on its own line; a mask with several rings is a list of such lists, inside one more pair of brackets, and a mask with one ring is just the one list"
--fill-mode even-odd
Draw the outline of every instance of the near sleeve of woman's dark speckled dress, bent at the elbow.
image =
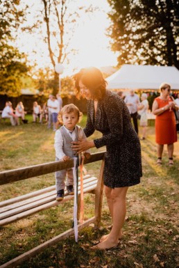
[[[123, 107], [126, 104], [123, 100], [119, 100], [117, 97], [110, 97], [108, 103], [105, 103], [105, 115], [106, 118], [102, 120], [108, 121], [109, 133], [103, 135], [100, 139], [95, 139], [94, 144], [96, 148], [100, 148], [104, 145], [111, 145], [112, 143], [119, 142], [123, 135]], [[126, 107], [126, 113], [128, 108]]]

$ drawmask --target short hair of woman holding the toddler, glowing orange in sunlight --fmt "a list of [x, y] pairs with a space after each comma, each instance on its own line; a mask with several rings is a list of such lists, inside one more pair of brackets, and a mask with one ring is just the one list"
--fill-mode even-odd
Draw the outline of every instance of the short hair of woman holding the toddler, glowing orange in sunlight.
[[83, 97], [80, 93], [79, 81], [89, 89], [94, 100], [99, 100], [105, 95], [107, 81], [105, 81], [99, 69], [95, 67], [83, 68], [80, 72], [74, 74], [73, 78], [75, 80], [76, 97]]

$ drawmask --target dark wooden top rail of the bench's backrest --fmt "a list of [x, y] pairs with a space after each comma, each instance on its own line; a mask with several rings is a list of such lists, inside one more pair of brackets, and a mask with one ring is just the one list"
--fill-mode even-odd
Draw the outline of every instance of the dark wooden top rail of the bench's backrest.
[[[94, 161], [103, 159], [104, 152], [97, 152], [91, 155], [89, 159], [85, 159], [84, 164], [89, 164]], [[10, 182], [17, 182], [19, 180], [25, 180], [28, 178], [34, 178], [39, 175], [52, 173], [55, 171], [61, 171], [63, 169], [72, 168], [74, 166], [73, 159], [64, 163], [63, 161], [54, 161], [50, 163], [28, 166], [25, 168], [17, 168], [11, 171], [3, 171], [0, 173], [0, 185]]]

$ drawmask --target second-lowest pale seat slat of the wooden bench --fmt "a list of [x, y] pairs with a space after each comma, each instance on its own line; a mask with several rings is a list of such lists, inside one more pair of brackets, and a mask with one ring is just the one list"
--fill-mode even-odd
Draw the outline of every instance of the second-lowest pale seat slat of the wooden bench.
[[[86, 189], [89, 189], [89, 187], [92, 187], [92, 186], [93, 186], [93, 188], [96, 188], [96, 180], [93, 180], [92, 182], [88, 182], [87, 184], [84, 184], [84, 193], [87, 191]], [[78, 187], [78, 193], [80, 194], [80, 188], [79, 187]], [[67, 191], [66, 191], [66, 194], [67, 194]], [[2, 212], [0, 214], [0, 220], [1, 219], [6, 219], [6, 218], [8, 218], [8, 217], [10, 217], [12, 215], [19, 214], [19, 213], [27, 211], [27, 210], [31, 210], [34, 207], [39, 207], [40, 205], [49, 203], [49, 202], [51, 202], [53, 200], [56, 200], [56, 191], [53, 191], [52, 195], [46, 196], [46, 197], [44, 197], [44, 198], [42, 198], [40, 200], [33, 200], [31, 203], [28, 203], [26, 205], [16, 207], [13, 210], [8, 210], [6, 212]]]

